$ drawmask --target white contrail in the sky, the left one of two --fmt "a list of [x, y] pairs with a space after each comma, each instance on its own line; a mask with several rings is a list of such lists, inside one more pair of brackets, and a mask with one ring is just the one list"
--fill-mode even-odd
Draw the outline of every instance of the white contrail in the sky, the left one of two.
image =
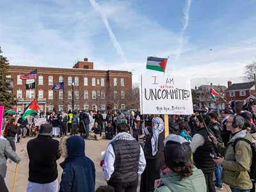
[[106, 27], [106, 29], [108, 30], [108, 35], [109, 35], [111, 42], [115, 46], [115, 49], [118, 52], [118, 54], [120, 54], [120, 56], [122, 56], [123, 60], [125, 61], [126, 59], [125, 59], [124, 51], [123, 51], [121, 45], [116, 40], [116, 36], [109, 26], [108, 18], [106, 17], [105, 13], [102, 11], [102, 8], [100, 7], [99, 3], [96, 3], [95, 0], [90, 0], [90, 3], [92, 4], [93, 8], [97, 12], [100, 13], [101, 20], [102, 20], [104, 26]]

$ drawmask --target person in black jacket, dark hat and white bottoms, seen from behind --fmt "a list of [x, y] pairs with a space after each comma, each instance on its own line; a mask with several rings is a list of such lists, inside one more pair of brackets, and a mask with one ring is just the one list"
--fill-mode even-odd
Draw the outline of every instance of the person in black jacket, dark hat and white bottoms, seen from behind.
[[[52, 125], [42, 124], [37, 138], [28, 141], [29, 183], [27, 191], [57, 191], [59, 141], [52, 139]], [[44, 186], [44, 188], [43, 188]]]

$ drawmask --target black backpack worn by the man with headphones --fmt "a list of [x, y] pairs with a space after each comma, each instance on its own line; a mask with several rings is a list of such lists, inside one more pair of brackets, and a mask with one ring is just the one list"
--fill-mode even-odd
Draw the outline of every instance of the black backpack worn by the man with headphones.
[[245, 141], [246, 143], [250, 144], [252, 148], [252, 164], [250, 166], [250, 172], [248, 171], [250, 175], [250, 179], [256, 180], [256, 145], [255, 143], [250, 143], [250, 141], [245, 140], [244, 138], [238, 138], [233, 143], [234, 152], [236, 153], [236, 144], [238, 141]]

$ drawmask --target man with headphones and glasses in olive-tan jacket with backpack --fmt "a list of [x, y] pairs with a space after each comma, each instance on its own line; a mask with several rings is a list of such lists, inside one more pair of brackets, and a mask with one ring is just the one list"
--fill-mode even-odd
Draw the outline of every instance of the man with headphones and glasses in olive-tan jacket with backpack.
[[[231, 132], [227, 146], [223, 147], [218, 140], [210, 134], [210, 140], [218, 148], [218, 152], [224, 158], [218, 157], [214, 162], [223, 166], [222, 181], [230, 186], [232, 192], [250, 192], [252, 189], [252, 136], [247, 130], [242, 130], [244, 118], [230, 115], [225, 123], [227, 131]], [[253, 162], [253, 164], [252, 164]], [[250, 172], [249, 172], [250, 171]]]

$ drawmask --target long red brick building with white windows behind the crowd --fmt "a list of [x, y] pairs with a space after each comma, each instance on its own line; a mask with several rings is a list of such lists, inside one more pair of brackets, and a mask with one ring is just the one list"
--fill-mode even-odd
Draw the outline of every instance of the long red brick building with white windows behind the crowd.
[[[37, 68], [37, 89], [26, 90], [25, 84], [34, 79], [22, 80], [20, 75]], [[10, 66], [13, 78], [13, 95], [18, 99], [17, 108], [21, 113], [37, 96], [42, 111], [72, 109], [125, 109], [132, 90], [132, 74], [121, 70], [94, 70], [93, 62], [87, 58], [78, 61], [72, 68]], [[55, 83], [64, 82], [63, 90], [51, 90]], [[72, 83], [73, 90], [72, 92]], [[37, 91], [36, 91], [37, 90]]]

